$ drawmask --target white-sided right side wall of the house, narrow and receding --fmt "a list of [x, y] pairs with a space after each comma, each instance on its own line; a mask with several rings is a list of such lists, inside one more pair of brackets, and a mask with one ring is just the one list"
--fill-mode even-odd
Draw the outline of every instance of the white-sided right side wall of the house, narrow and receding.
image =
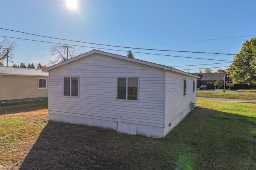
[[[183, 94], [183, 80], [187, 80], [187, 94]], [[167, 135], [190, 111], [190, 102], [196, 104], [196, 78], [165, 72], [165, 122], [164, 136]], [[193, 80], [195, 81], [195, 91], [193, 92]], [[169, 127], [169, 123], [171, 126]]]

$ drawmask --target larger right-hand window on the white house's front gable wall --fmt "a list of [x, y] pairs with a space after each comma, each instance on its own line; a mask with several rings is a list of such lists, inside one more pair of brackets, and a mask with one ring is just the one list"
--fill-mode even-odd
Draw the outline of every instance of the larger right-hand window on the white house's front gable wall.
[[117, 77], [116, 100], [138, 102], [138, 76]]

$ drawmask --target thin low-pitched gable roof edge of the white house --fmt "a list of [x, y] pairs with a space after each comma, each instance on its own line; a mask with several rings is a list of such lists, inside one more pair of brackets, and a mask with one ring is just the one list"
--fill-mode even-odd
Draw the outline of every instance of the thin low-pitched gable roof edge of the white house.
[[80, 59], [83, 59], [85, 57], [88, 57], [88, 56], [94, 55], [94, 54], [106, 55], [108, 57], [113, 57], [113, 58], [116, 58], [116, 59], [122, 59], [122, 60], [125, 60], [125, 61], [130, 61], [130, 62], [138, 63], [138, 64], [144, 64], [144, 65], [147, 65], [147, 66], [161, 68], [163, 70], [167, 70], [167, 71], [170, 71], [170, 72], [176, 72], [178, 74], [184, 74], [184, 75], [187, 75], [187, 76], [192, 76], [192, 77], [198, 78], [197, 76], [195, 76], [193, 74], [190, 74], [188, 72], [184, 72], [184, 71], [178, 70], [176, 68], [172, 68], [170, 66], [165, 66], [165, 65], [161, 65], [161, 64], [151, 63], [151, 62], [143, 61], [143, 60], [139, 60], [139, 59], [132, 59], [132, 58], [129, 58], [129, 57], [126, 57], [126, 56], [117, 55], [117, 54], [113, 54], [113, 53], [108, 53], [108, 52], [104, 52], [104, 51], [100, 51], [100, 50], [95, 50], [95, 49], [92, 50], [92, 51], [88, 51], [87, 53], [78, 55], [78, 56], [76, 56], [76, 57], [74, 57], [72, 59], [69, 59], [67, 61], [63, 61], [61, 63], [58, 63], [58, 64], [55, 64], [55, 65], [50, 66], [48, 68], [45, 68], [44, 70], [42, 70], [42, 72], [49, 72], [51, 70], [54, 70], [54, 69], [59, 68], [61, 66], [65, 66], [66, 64], [72, 63], [74, 61], [78, 61]]

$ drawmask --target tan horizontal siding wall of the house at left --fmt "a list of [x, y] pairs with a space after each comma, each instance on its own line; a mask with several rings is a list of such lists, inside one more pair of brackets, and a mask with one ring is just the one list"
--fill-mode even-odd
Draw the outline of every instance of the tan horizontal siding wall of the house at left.
[[0, 100], [47, 97], [48, 88], [38, 89], [38, 78], [48, 79], [37, 76], [0, 75]]

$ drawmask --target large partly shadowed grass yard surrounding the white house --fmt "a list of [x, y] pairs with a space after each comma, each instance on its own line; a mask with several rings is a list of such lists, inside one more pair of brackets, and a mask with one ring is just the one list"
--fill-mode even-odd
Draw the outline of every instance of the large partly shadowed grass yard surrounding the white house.
[[162, 139], [48, 122], [47, 101], [2, 105], [0, 164], [14, 169], [256, 169], [256, 104], [197, 104]]

